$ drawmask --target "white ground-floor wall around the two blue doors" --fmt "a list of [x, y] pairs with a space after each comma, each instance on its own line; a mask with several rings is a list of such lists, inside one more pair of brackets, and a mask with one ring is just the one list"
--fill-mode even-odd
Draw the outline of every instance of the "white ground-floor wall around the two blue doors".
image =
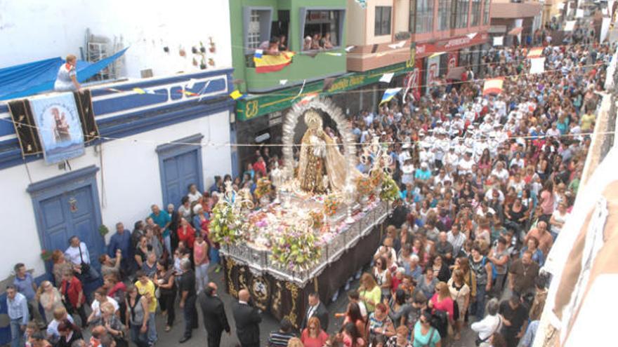
[[[122, 140], [105, 142], [103, 171], [99, 170], [96, 178], [103, 224], [110, 228], [107, 237], [112, 235], [117, 222], [123, 222], [127, 229], [132, 229], [134, 222], [144, 219], [150, 213], [152, 203], [162, 204], [159, 157], [155, 151], [157, 145], [199, 132], [204, 135], [203, 143], [227, 143], [230, 141], [229, 121], [230, 113], [223, 111]], [[72, 159], [70, 163], [73, 170], [90, 165], [100, 168], [100, 157], [94, 153], [93, 147], [88, 147], [84, 156]], [[65, 173], [58, 170], [57, 165], [46, 165], [42, 160], [29, 163], [28, 168], [32, 182]], [[204, 189], [212, 184], [214, 175], [231, 173], [230, 147], [202, 147], [202, 170]], [[105, 177], [104, 187], [101, 185], [101, 175]], [[24, 165], [0, 171], [0, 191], [3, 197], [0, 199], [0, 211], [7, 241], [0, 247], [0, 278], [11, 275], [16, 262], [34, 268], [34, 275], [41, 275], [45, 271], [39, 256], [41, 243], [34, 219], [34, 207], [26, 191], [29, 184]]]

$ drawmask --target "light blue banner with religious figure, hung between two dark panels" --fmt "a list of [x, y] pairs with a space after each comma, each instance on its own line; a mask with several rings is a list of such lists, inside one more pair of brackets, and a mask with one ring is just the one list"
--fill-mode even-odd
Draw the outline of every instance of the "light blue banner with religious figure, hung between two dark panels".
[[85, 153], [84, 133], [72, 93], [29, 100], [45, 162], [60, 163]]

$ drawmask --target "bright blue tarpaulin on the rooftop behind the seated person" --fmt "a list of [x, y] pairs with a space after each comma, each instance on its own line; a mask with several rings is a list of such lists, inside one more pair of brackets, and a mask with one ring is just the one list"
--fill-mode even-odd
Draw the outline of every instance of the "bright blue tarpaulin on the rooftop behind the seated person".
[[[77, 81], [83, 83], [107, 65], [117, 60], [128, 49], [124, 48], [111, 57], [98, 62], [77, 61]], [[27, 97], [53, 90], [58, 69], [65, 63], [60, 57], [29, 62], [27, 64], [0, 69], [0, 100]]]

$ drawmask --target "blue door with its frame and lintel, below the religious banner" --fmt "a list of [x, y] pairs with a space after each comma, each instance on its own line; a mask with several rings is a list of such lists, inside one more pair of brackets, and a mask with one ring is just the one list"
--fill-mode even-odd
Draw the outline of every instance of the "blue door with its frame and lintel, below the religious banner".
[[[88, 246], [93, 266], [99, 267], [104, 240], [96, 186], [98, 168], [91, 166], [65, 175], [30, 184], [41, 248], [65, 251], [71, 236]], [[49, 264], [47, 264], [49, 265]]]

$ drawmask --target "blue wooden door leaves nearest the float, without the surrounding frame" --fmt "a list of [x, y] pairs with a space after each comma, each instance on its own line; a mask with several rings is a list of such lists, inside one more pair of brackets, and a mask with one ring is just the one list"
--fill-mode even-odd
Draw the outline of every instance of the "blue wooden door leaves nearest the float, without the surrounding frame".
[[164, 204], [173, 203], [180, 206], [180, 200], [187, 195], [190, 184], [197, 184], [197, 189], [202, 190], [202, 182], [199, 182], [198, 151], [189, 151], [178, 156], [171, 156], [163, 161], [164, 177]]

